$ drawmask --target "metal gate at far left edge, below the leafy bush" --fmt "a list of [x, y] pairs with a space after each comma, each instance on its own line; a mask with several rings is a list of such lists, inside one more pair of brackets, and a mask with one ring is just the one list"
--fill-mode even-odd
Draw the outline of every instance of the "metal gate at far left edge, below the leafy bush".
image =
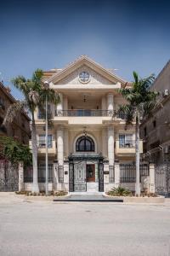
[[18, 165], [7, 160], [0, 160], [0, 191], [18, 191]]

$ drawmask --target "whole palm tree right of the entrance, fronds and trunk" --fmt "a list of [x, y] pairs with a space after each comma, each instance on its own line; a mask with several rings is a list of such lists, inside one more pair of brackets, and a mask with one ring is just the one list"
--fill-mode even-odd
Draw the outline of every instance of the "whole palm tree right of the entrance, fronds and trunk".
[[156, 91], [150, 90], [150, 85], [155, 80], [153, 74], [145, 79], [140, 79], [138, 73], [133, 72], [132, 86], [125, 85], [119, 92], [127, 100], [127, 104], [119, 108], [119, 112], [125, 113], [127, 125], [135, 121], [135, 152], [136, 152], [136, 184], [135, 194], [140, 195], [139, 183], [139, 123], [141, 119], [148, 116], [156, 107]]

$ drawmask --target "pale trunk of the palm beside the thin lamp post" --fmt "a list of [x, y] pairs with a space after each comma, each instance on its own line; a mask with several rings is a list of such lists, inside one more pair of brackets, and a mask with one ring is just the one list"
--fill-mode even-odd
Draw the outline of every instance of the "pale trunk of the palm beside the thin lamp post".
[[32, 113], [32, 123], [31, 123], [31, 144], [32, 144], [32, 166], [33, 166], [32, 193], [39, 193], [39, 187], [38, 187], [38, 181], [37, 181], [37, 131], [36, 131], [34, 113]]

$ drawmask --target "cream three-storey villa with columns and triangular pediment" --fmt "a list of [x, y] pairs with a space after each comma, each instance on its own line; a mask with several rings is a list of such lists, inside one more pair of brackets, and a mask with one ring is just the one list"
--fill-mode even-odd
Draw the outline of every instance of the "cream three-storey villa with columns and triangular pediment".
[[[48, 188], [97, 192], [122, 183], [134, 190], [135, 130], [126, 130], [123, 115], [115, 114], [125, 103], [118, 89], [127, 82], [87, 56], [44, 72], [43, 80], [60, 95], [57, 106], [48, 105], [53, 123], [48, 130]], [[36, 125], [38, 181], [44, 189], [45, 122], [40, 111]], [[31, 181], [31, 173], [25, 172], [25, 189], [31, 190]]]

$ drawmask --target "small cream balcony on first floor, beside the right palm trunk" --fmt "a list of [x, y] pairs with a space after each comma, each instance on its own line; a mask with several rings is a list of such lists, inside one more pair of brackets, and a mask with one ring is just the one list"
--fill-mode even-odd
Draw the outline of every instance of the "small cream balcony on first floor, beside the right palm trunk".
[[[135, 141], [129, 140], [122, 142], [120, 140], [116, 140], [116, 154], [135, 154]], [[143, 140], [139, 141], [139, 153], [143, 153]]]

